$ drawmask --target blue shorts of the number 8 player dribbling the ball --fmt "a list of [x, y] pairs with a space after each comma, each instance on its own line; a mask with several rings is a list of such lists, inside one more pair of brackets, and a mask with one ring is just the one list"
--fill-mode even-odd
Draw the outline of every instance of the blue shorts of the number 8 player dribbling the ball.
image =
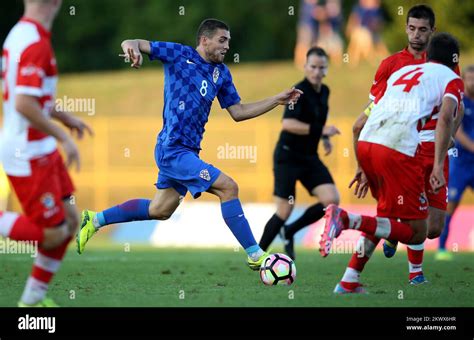
[[155, 162], [160, 172], [156, 187], [173, 188], [185, 196], [189, 190], [194, 198], [201, 196], [216, 181], [221, 171], [201, 159], [197, 152], [180, 146], [155, 146]]

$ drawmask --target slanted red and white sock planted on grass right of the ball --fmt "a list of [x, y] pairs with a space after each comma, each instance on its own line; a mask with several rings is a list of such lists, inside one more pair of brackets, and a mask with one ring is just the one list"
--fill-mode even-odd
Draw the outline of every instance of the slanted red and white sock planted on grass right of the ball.
[[364, 270], [365, 264], [372, 256], [380, 239], [362, 233], [357, 241], [356, 252], [352, 254], [351, 260], [342, 276], [340, 285], [347, 289], [353, 290], [360, 285], [360, 273]]

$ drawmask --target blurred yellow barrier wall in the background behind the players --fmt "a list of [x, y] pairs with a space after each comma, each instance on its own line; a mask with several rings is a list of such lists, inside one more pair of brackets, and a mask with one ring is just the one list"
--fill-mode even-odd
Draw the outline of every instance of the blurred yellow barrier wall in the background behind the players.
[[[245, 202], [272, 201], [272, 154], [280, 129], [279, 117], [273, 114], [235, 123], [223, 111], [216, 109], [211, 114], [201, 156], [237, 181], [241, 199]], [[78, 188], [79, 206], [103, 209], [129, 198], [153, 197], [153, 184], [157, 175], [153, 150], [161, 119], [92, 117], [88, 122], [96, 134], [94, 138], [86, 138], [79, 143], [82, 170], [80, 173], [72, 172]], [[343, 204], [374, 202], [372, 198], [357, 200], [347, 189], [355, 169], [351, 144], [352, 118], [334, 117], [329, 123], [336, 125], [342, 134], [333, 138], [333, 153], [321, 158], [336, 181]], [[256, 147], [256, 162], [251, 162], [251, 159], [219, 158], [226, 143], [228, 150], [232, 146]], [[233, 155], [228, 153], [227, 156]], [[190, 196], [187, 199], [192, 200]], [[215, 198], [204, 194], [200, 200]], [[297, 203], [310, 203], [313, 200], [298, 185]], [[467, 193], [464, 203], [473, 202], [472, 192]]]

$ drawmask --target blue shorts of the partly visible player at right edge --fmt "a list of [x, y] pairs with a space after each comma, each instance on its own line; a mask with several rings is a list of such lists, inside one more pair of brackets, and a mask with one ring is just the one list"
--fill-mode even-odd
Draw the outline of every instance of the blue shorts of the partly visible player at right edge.
[[449, 191], [450, 202], [460, 202], [464, 190], [469, 186], [474, 188], [473, 159], [463, 157], [449, 157]]

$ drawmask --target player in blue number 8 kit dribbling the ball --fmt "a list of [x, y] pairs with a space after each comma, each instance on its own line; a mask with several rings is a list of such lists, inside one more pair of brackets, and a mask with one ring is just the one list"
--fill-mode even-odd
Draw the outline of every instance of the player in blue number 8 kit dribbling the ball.
[[232, 82], [224, 56], [229, 50], [229, 27], [218, 20], [206, 19], [199, 26], [197, 48], [171, 42], [125, 40], [124, 54], [131, 66], [139, 68], [142, 54], [164, 65], [165, 89], [163, 129], [157, 138], [155, 162], [160, 169], [153, 200], [134, 199], [102, 212], [84, 210], [76, 235], [81, 254], [87, 241], [101, 227], [139, 220], [166, 220], [190, 191], [194, 198], [210, 192], [221, 201], [222, 216], [235, 238], [245, 249], [247, 263], [258, 270], [268, 255], [257, 244], [238, 198], [237, 184], [219, 169], [199, 158], [212, 101], [239, 122], [260, 116], [278, 105], [296, 102], [302, 91], [292, 88], [273, 97], [242, 104]]

